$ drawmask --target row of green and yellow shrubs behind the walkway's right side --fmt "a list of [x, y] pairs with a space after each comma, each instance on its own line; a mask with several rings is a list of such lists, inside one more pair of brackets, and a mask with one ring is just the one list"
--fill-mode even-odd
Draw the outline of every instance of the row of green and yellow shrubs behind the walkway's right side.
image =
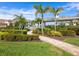
[[[35, 34], [41, 34], [41, 30], [39, 30], [39, 29], [35, 29], [35, 30], [33, 30], [33, 33], [35, 33]], [[76, 35], [76, 33], [75, 33], [75, 31], [73, 31], [73, 30], [60, 30], [60, 31], [52, 31], [52, 30], [45, 30], [44, 29], [44, 35], [47, 35], [47, 36], [58, 36], [58, 37], [60, 37], [60, 36], [75, 36]]]

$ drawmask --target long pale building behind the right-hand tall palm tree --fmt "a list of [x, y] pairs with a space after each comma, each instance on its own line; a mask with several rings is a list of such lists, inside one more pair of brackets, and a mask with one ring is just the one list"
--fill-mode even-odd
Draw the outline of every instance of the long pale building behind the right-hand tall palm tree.
[[[76, 25], [77, 22], [79, 22], [79, 16], [64, 16], [64, 17], [58, 17], [57, 19], [57, 25], [64, 24], [65, 26], [70, 25], [70, 23], [73, 23], [73, 25]], [[44, 20], [45, 25], [55, 25], [55, 18], [47, 18]]]

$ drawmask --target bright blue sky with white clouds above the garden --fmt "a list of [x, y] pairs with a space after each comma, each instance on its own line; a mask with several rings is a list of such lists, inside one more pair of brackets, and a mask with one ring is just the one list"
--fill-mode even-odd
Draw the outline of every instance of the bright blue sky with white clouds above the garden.
[[[15, 14], [22, 14], [26, 19], [34, 20], [36, 12], [34, 4], [41, 4], [43, 7], [63, 7], [64, 10], [59, 16], [75, 16], [79, 11], [79, 2], [0, 2], [0, 19], [13, 19]], [[50, 17], [53, 17], [52, 13], [44, 14], [44, 18]]]

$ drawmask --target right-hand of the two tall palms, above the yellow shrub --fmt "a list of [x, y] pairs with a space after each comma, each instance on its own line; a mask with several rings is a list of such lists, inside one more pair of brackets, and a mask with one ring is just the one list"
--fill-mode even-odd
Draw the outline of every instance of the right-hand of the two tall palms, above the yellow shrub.
[[55, 31], [57, 30], [57, 16], [60, 14], [60, 12], [63, 10], [62, 7], [60, 8], [53, 8], [53, 7], [49, 7], [49, 11], [53, 13], [54, 17], [55, 17]]

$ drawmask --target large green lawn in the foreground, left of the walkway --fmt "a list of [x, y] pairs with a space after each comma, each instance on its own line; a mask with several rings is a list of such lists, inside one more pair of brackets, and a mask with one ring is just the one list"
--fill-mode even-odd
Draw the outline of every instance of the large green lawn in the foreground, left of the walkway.
[[0, 42], [0, 56], [69, 56], [45, 42]]

